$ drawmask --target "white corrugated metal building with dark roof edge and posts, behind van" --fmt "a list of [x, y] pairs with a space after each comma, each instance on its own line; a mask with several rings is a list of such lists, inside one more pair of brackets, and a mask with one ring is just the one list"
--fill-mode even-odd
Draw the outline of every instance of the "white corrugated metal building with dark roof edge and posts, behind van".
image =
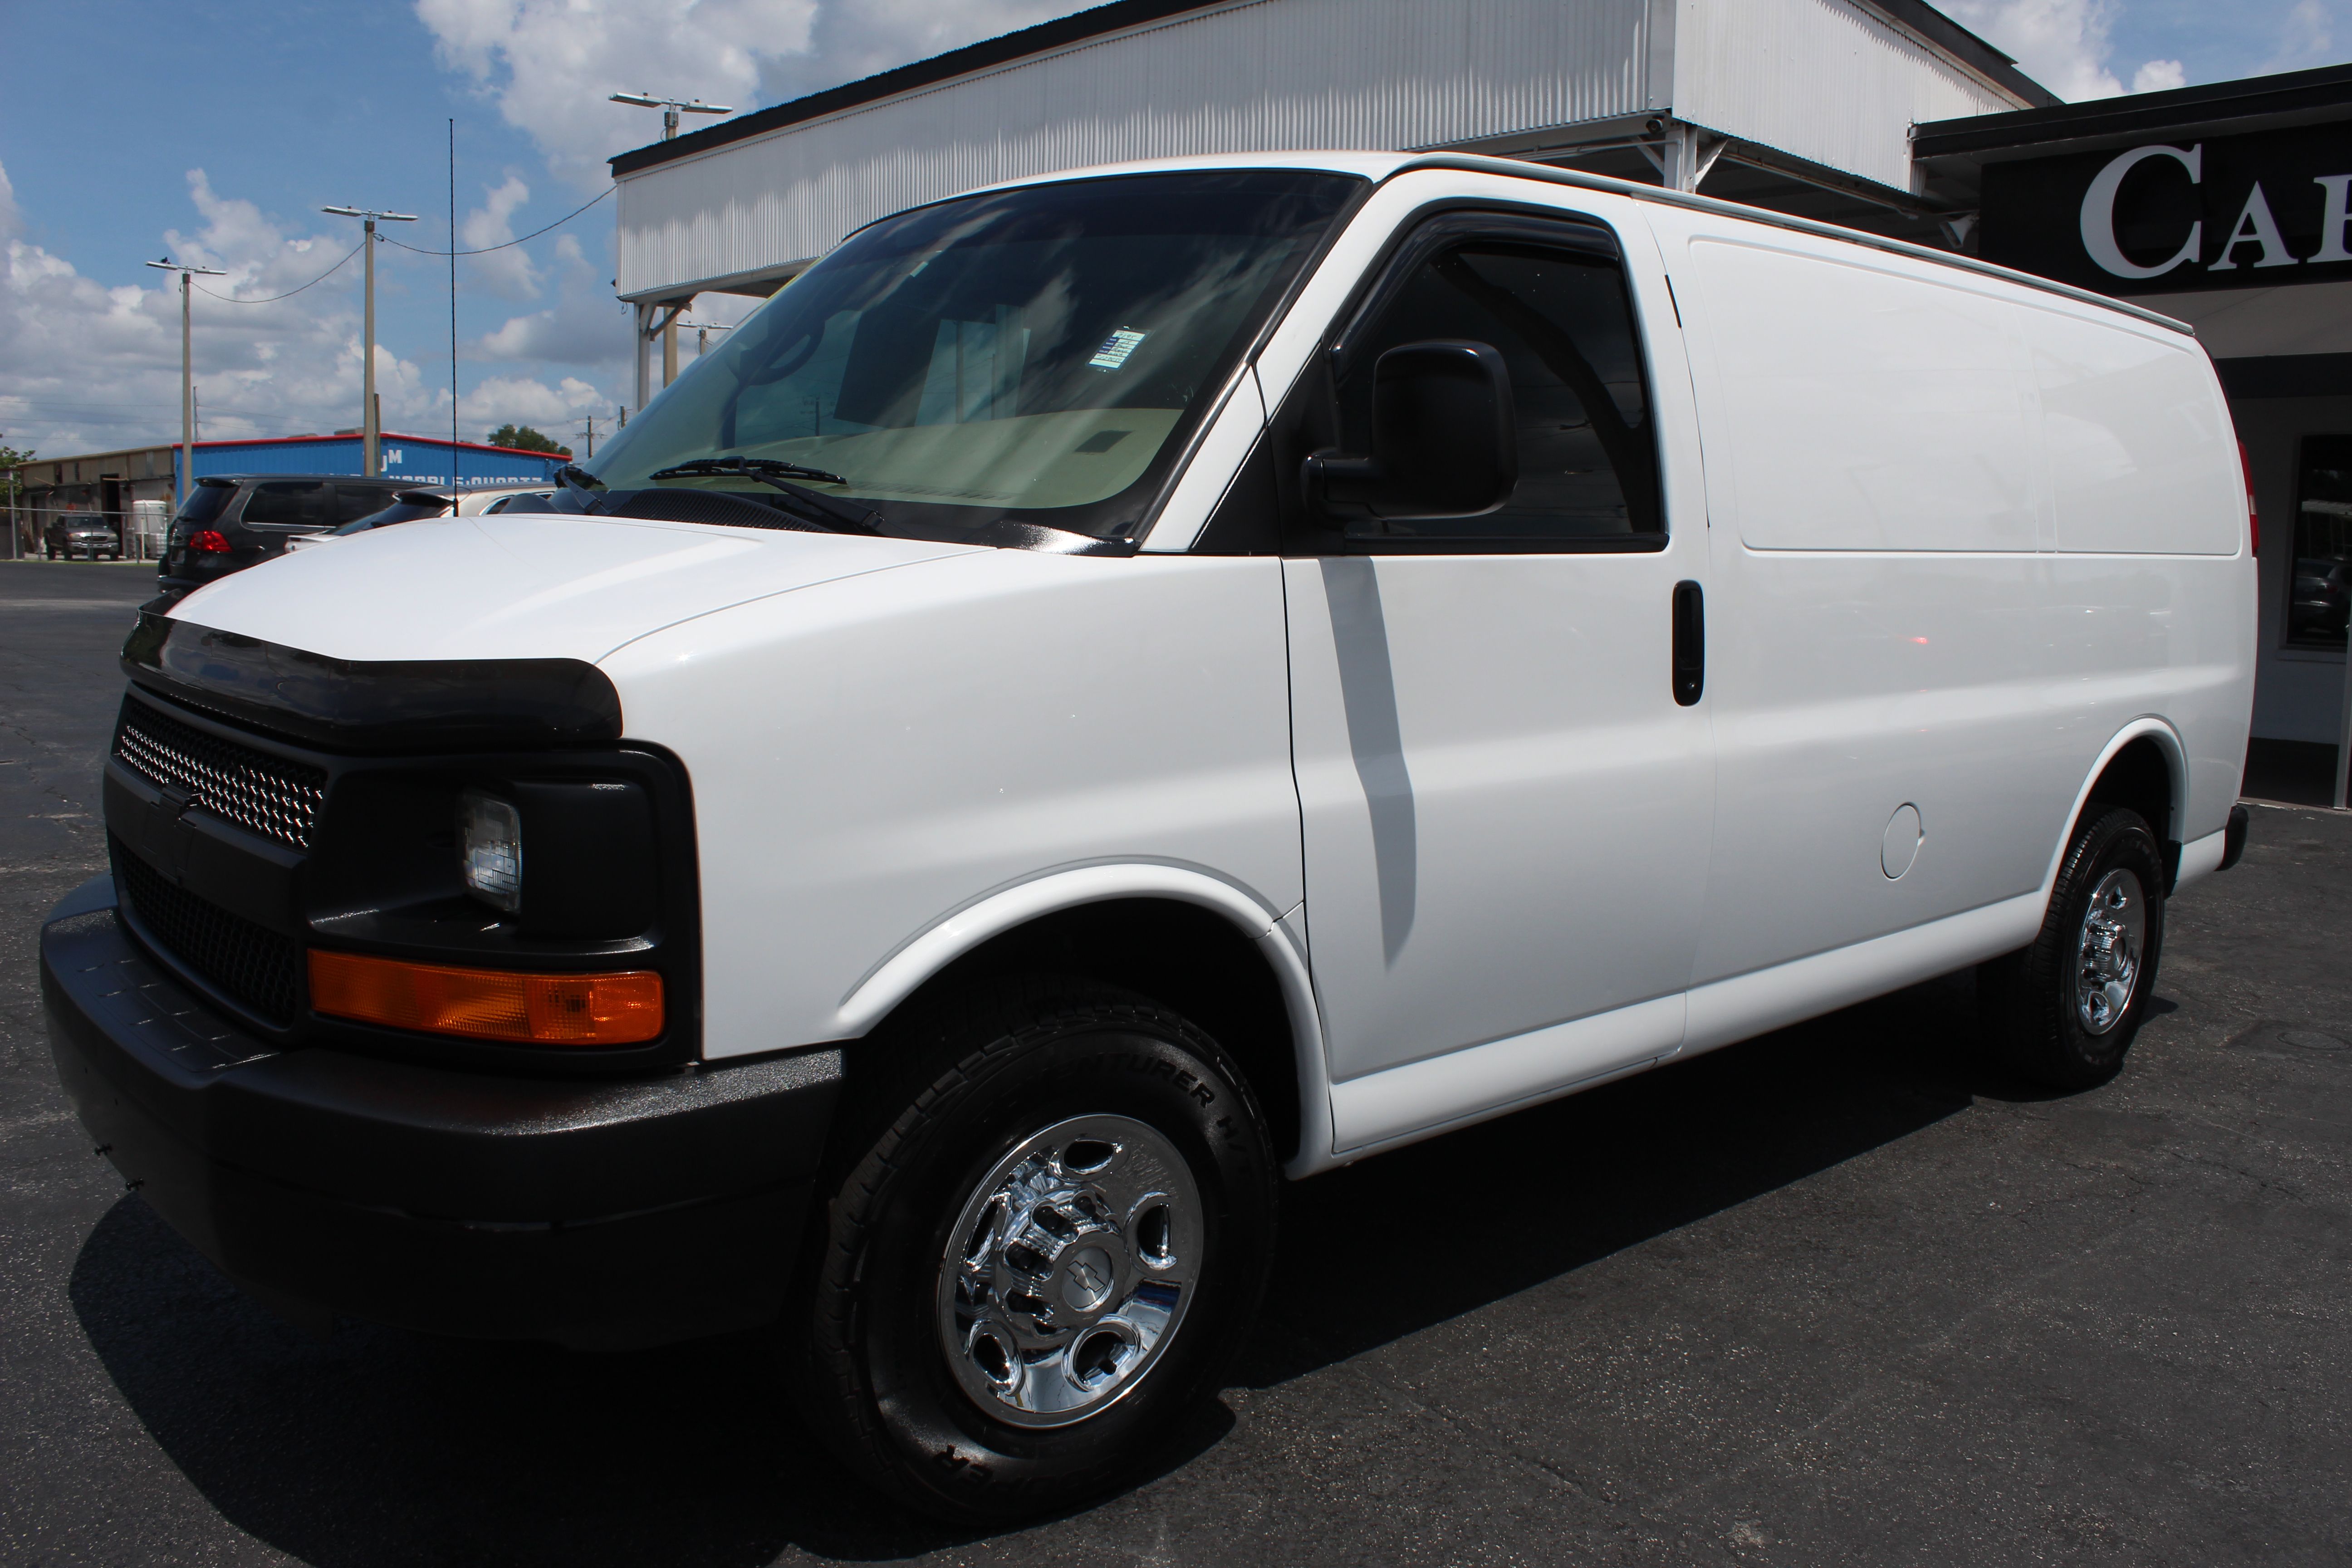
[[616, 158], [637, 402], [696, 294], [771, 294], [849, 230], [993, 181], [1444, 148], [1950, 244], [1964, 214], [1912, 188], [1910, 127], [2051, 103], [1922, 0], [1120, 0]]

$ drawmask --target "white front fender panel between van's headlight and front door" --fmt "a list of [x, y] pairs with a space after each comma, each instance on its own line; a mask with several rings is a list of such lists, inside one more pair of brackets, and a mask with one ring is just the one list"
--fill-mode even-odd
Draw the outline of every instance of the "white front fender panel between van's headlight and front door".
[[710, 1058], [863, 1034], [898, 952], [1056, 872], [1221, 882], [1251, 938], [1301, 900], [1275, 559], [967, 552], [602, 668], [694, 780]]

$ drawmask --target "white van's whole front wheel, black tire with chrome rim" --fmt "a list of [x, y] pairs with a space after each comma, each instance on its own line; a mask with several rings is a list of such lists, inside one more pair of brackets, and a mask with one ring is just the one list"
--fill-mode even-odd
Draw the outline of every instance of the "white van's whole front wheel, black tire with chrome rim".
[[870, 1048], [906, 1072], [868, 1098], [880, 1131], [804, 1281], [811, 1422], [960, 1523], [1129, 1481], [1216, 1396], [1272, 1265], [1247, 1081], [1181, 1016], [1077, 983], [971, 994]]

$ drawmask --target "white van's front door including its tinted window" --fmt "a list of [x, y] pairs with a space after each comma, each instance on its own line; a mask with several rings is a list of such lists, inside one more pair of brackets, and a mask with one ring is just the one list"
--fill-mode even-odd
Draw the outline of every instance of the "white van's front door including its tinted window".
[[[1665, 505], [1644, 336], [1606, 226], [1454, 212], [1406, 233], [1270, 430], [1343, 1152], [1682, 1041], [1712, 752], [1675, 616], [1686, 583], [1696, 635], [1705, 529]], [[1479, 517], [1310, 512], [1303, 456], [1364, 454], [1374, 367], [1432, 339], [1501, 353], [1517, 489]]]

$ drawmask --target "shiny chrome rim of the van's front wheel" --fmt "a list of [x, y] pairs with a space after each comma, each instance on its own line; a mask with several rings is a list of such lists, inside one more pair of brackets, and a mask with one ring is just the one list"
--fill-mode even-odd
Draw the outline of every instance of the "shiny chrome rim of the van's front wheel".
[[1152, 1368], [1200, 1279], [1200, 1190], [1131, 1117], [1030, 1133], [981, 1178], [938, 1267], [957, 1385], [1016, 1427], [1094, 1415]]

